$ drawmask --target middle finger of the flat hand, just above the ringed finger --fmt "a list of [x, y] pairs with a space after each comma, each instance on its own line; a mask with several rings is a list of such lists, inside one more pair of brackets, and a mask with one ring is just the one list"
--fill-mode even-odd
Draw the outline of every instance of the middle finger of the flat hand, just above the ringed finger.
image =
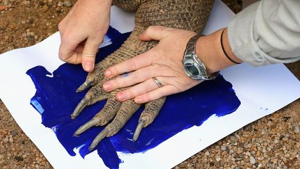
[[122, 74], [113, 80], [106, 81], [106, 83], [103, 84], [103, 89], [106, 90], [106, 92], [110, 92], [117, 88], [133, 86], [136, 83], [146, 81], [151, 77], [156, 77], [156, 72], [160, 72], [158, 69], [160, 69], [160, 67], [150, 65], [128, 74]]

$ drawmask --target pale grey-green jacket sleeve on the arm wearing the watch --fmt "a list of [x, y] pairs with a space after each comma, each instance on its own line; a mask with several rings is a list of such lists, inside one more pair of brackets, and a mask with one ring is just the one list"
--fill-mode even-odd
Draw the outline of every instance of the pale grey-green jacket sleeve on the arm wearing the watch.
[[262, 0], [228, 24], [235, 56], [253, 66], [300, 60], [300, 0]]

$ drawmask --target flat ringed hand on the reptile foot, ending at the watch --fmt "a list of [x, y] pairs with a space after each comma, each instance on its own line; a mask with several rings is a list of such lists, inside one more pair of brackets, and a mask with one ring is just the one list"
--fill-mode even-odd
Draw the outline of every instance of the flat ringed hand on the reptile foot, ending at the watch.
[[[200, 82], [185, 74], [182, 63], [188, 40], [195, 34], [181, 29], [150, 26], [140, 35], [140, 40], [159, 40], [158, 45], [144, 54], [108, 68], [104, 74], [109, 78], [125, 72], [131, 73], [107, 81], [103, 89], [109, 92], [134, 85], [117, 93], [116, 97], [119, 101], [135, 98], [136, 103], [142, 104], [196, 86]], [[163, 83], [162, 88], [158, 88], [153, 77]]]

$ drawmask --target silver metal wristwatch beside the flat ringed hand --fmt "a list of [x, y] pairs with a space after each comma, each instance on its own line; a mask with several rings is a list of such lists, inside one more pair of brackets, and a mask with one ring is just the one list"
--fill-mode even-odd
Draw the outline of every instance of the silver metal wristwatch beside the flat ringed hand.
[[183, 70], [188, 77], [194, 80], [213, 80], [219, 75], [219, 72], [208, 74], [206, 65], [204, 65], [196, 54], [196, 42], [201, 36], [202, 35], [194, 35], [190, 38], [183, 54]]

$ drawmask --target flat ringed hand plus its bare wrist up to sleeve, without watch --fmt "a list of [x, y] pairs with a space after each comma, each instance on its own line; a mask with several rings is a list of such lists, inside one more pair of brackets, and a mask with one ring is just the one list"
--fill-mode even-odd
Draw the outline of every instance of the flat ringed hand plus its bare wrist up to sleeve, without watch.
[[[202, 36], [196, 43], [196, 53], [206, 65], [208, 73], [217, 72], [234, 65], [224, 56], [220, 46], [220, 37], [223, 31], [224, 47], [228, 50], [231, 58], [240, 61], [230, 50], [226, 29]], [[106, 81], [103, 84], [103, 89], [109, 92], [116, 88], [132, 86], [118, 92], [117, 99], [123, 102], [134, 98], [135, 103], [142, 104], [196, 86], [201, 81], [188, 77], [183, 71], [182, 63], [185, 47], [195, 34], [192, 31], [182, 29], [150, 26], [140, 35], [140, 40], [158, 40], [158, 45], [144, 54], [109, 67], [104, 72], [104, 75], [108, 78], [116, 77], [125, 72], [130, 73]], [[160, 81], [160, 86], [156, 81]]]

